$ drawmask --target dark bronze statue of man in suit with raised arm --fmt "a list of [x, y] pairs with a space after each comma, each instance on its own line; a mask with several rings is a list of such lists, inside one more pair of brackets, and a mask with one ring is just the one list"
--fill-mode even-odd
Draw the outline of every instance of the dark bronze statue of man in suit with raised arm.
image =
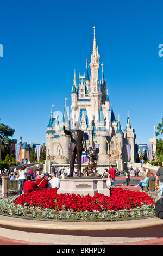
[[[66, 135], [70, 135], [71, 137], [71, 144], [69, 150], [71, 151], [71, 160], [70, 160], [70, 174], [69, 177], [73, 176], [74, 172], [74, 163], [77, 155], [77, 164], [78, 164], [78, 176], [82, 176], [82, 151], [83, 151], [83, 145], [84, 150], [87, 151], [86, 148], [86, 139], [84, 132], [79, 129], [80, 123], [75, 123], [75, 129], [73, 130], [65, 130], [65, 126], [63, 126], [64, 133]], [[82, 143], [83, 142], [83, 143]]]

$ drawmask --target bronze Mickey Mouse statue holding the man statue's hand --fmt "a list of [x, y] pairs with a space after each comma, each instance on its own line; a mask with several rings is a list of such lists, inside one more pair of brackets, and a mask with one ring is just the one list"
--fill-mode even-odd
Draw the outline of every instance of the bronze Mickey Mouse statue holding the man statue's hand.
[[[89, 176], [101, 176], [99, 173], [97, 173], [96, 165], [97, 165], [97, 154], [99, 153], [99, 149], [95, 149], [90, 147], [89, 148], [89, 155], [87, 154], [87, 151], [85, 150], [86, 156], [89, 159], [88, 168], [91, 171]], [[93, 170], [95, 170], [95, 174], [93, 173]]]

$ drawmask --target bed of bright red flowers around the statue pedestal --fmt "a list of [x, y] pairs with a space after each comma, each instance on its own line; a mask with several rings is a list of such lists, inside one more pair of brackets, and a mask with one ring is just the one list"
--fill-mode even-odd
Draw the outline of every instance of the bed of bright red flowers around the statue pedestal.
[[38, 190], [32, 193], [22, 194], [14, 201], [15, 204], [27, 205], [29, 207], [41, 207], [41, 209], [53, 209], [61, 211], [65, 204], [67, 209], [73, 211], [102, 211], [100, 205], [103, 205], [105, 211], [108, 210], [123, 210], [132, 209], [141, 206], [141, 203], [146, 205], [155, 204], [154, 200], [144, 192], [136, 192], [123, 190], [122, 188], [111, 188], [110, 197], [104, 194], [89, 194], [81, 197], [79, 194], [57, 194], [57, 189]]

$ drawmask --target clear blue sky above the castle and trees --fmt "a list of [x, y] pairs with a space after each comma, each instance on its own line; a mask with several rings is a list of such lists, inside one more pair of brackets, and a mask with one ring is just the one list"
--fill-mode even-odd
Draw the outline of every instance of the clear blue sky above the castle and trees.
[[124, 131], [129, 109], [136, 142], [148, 143], [163, 117], [162, 0], [7, 0], [0, 9], [0, 118], [16, 130], [13, 139], [46, 144], [51, 105], [54, 115], [65, 97], [71, 106], [74, 69], [78, 82], [95, 26], [116, 119]]

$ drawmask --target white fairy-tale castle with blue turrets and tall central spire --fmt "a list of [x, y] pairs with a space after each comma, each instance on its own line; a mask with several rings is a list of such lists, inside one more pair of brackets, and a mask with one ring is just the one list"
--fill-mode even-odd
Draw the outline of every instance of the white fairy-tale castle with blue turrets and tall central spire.
[[[63, 117], [59, 124], [58, 115], [51, 115], [46, 132], [47, 159], [54, 164], [68, 164], [70, 162], [70, 136], [65, 135], [66, 130], [73, 129], [76, 121], [80, 122], [80, 129], [84, 131], [87, 148], [99, 148], [98, 164], [114, 164], [117, 161], [135, 161], [135, 131], [131, 127], [129, 112], [127, 112], [126, 129], [121, 128], [121, 118], [116, 119], [114, 108], [106, 90], [104, 79], [104, 67], [100, 64], [98, 46], [96, 46], [95, 27], [93, 37], [93, 51], [91, 63], [86, 62], [84, 75], [79, 74], [76, 80], [76, 72], [72, 83], [71, 92], [71, 117], [67, 113], [66, 100], [63, 109]], [[101, 79], [99, 68], [102, 66]], [[91, 75], [89, 75], [89, 68]], [[83, 153], [83, 163], [88, 159]]]

